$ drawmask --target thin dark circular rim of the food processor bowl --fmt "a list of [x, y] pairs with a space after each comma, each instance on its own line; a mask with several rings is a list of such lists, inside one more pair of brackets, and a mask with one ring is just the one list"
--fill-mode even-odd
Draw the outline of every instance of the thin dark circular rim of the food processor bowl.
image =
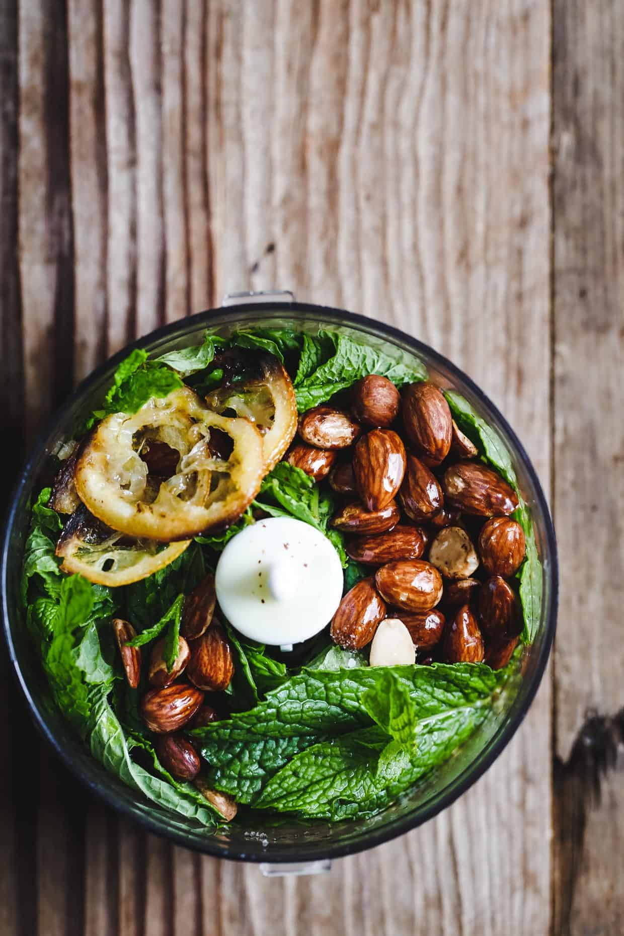
[[[91, 779], [91, 777], [89, 777], [87, 773], [74, 762], [69, 753], [66, 752], [65, 748], [62, 747], [62, 745], [56, 740], [54, 734], [51, 731], [51, 728], [47, 724], [44, 710], [37, 705], [36, 700], [30, 693], [22, 673], [22, 667], [17, 659], [15, 647], [11, 637], [9, 627], [9, 608], [7, 602], [9, 540], [13, 525], [16, 522], [17, 506], [22, 494], [22, 489], [29, 480], [33, 464], [44, 453], [47, 440], [51, 437], [55, 427], [63, 421], [65, 414], [72, 407], [73, 403], [76, 402], [76, 400], [79, 399], [83, 394], [85, 394], [86, 391], [94, 383], [96, 383], [101, 376], [104, 375], [104, 373], [109, 371], [111, 367], [117, 366], [117, 364], [119, 364], [123, 358], [126, 358], [128, 354], [130, 354], [136, 348], [142, 348], [146, 344], [152, 344], [154, 341], [166, 339], [169, 334], [179, 331], [182, 325], [188, 324], [189, 326], [197, 326], [205, 324], [206, 326], [209, 326], [212, 317], [217, 314], [220, 316], [220, 318], [223, 319], [225, 317], [225, 319], [230, 319], [232, 324], [235, 324], [236, 317], [241, 313], [271, 313], [273, 315], [283, 314], [284, 316], [287, 316], [289, 311], [309, 314], [311, 317], [316, 318], [319, 323], [327, 320], [331, 324], [334, 324], [334, 320], [338, 316], [341, 319], [341, 324], [351, 326], [355, 329], [361, 327], [366, 330], [370, 328], [371, 324], [373, 324], [376, 329], [379, 329], [379, 331], [381, 331], [390, 340], [394, 338], [397, 339], [400, 343], [407, 342], [412, 346], [416, 354], [424, 354], [434, 362], [438, 362], [445, 370], [452, 373], [460, 382], [466, 385], [472, 391], [474, 396], [479, 400], [479, 402], [483, 402], [486, 407], [489, 407], [492, 410], [495, 416], [500, 420], [503, 430], [512, 440], [521, 461], [523, 461], [524, 467], [530, 476], [531, 483], [537, 495], [538, 503], [544, 515], [546, 548], [551, 563], [552, 583], [552, 591], [550, 594], [550, 613], [546, 622], [546, 633], [544, 634], [544, 641], [542, 643], [540, 655], [535, 665], [530, 686], [528, 687], [526, 695], [522, 700], [522, 705], [518, 706], [516, 710], [512, 711], [512, 717], [510, 718], [509, 722], [505, 723], [501, 727], [499, 731], [499, 737], [494, 739], [489, 751], [479, 761], [477, 767], [472, 768], [471, 766], [466, 768], [463, 776], [460, 775], [460, 777], [457, 778], [454, 789], [450, 793], [441, 797], [440, 801], [436, 802], [434, 805], [425, 807], [422, 811], [419, 811], [416, 816], [406, 818], [404, 822], [399, 824], [399, 827], [390, 826], [387, 829], [381, 829], [379, 832], [372, 831], [369, 835], [365, 835], [362, 841], [347, 842], [343, 845], [340, 843], [333, 844], [327, 846], [327, 849], [325, 850], [323, 850], [322, 846], [315, 847], [313, 850], [314, 854], [312, 856], [301, 856], [298, 859], [293, 856], [292, 852], [284, 852], [279, 848], [277, 848], [275, 851], [273, 851], [271, 848], [268, 855], [254, 851], [251, 851], [249, 854], [247, 854], [240, 851], [232, 852], [223, 846], [213, 845], [211, 837], [207, 837], [205, 842], [198, 842], [196, 840], [188, 841], [182, 831], [177, 832], [174, 829], [163, 828], [158, 820], [156, 818], [152, 818], [150, 815], [138, 815], [136, 812], [133, 812], [132, 809], [125, 803], [119, 801], [114, 791], [109, 789], [101, 782], [97, 782]], [[222, 322], [220, 324], [224, 323]], [[55, 410], [51, 417], [46, 420], [43, 430], [38, 433], [36, 444], [32, 448], [31, 455], [28, 461], [26, 461], [26, 464], [22, 470], [22, 474], [20, 475], [14, 490], [12, 491], [9, 501], [5, 536], [2, 546], [0, 589], [2, 590], [3, 624], [9, 657], [12, 665], [15, 668], [20, 685], [22, 686], [22, 692], [26, 697], [36, 727], [41, 735], [51, 744], [51, 747], [59, 755], [65, 766], [70, 770], [71, 773], [74, 774], [75, 777], [80, 780], [80, 782], [84, 783], [97, 796], [101, 797], [112, 809], [116, 810], [117, 812], [122, 812], [124, 816], [131, 819], [133, 822], [138, 823], [140, 826], [143, 826], [148, 831], [168, 839], [169, 841], [174, 841], [176, 844], [181, 845], [184, 848], [188, 848], [192, 851], [200, 852], [205, 855], [227, 858], [233, 861], [279, 864], [283, 862], [294, 863], [297, 862], [297, 860], [305, 862], [307, 860], [339, 858], [348, 855], [355, 855], [356, 853], [362, 851], [368, 851], [370, 848], [381, 845], [385, 841], [391, 841], [392, 839], [398, 838], [400, 835], [404, 835], [406, 832], [411, 831], [417, 826], [421, 826], [423, 823], [428, 822], [429, 819], [432, 819], [439, 812], [442, 812], [444, 809], [454, 803], [455, 800], [462, 796], [472, 786], [473, 783], [475, 783], [483, 776], [486, 770], [491, 767], [502, 750], [507, 746], [509, 741], [514, 737], [518, 727], [524, 721], [524, 718], [530, 709], [530, 705], [544, 676], [544, 669], [546, 663], [548, 662], [548, 656], [550, 654], [555, 631], [557, 628], [557, 610], [559, 603], [559, 563], [557, 556], [555, 530], [544, 496], [544, 490], [542, 489], [540, 480], [537, 476], [537, 473], [535, 472], [535, 469], [533, 468], [532, 462], [530, 461], [525, 447], [522, 445], [517, 435], [515, 434], [515, 431], [509, 425], [505, 417], [502, 416], [498, 407], [486, 396], [483, 390], [472, 381], [471, 377], [469, 377], [466, 373], [463, 373], [463, 371], [461, 371], [457, 365], [448, 360], [448, 358], [445, 358], [434, 348], [430, 347], [430, 345], [419, 341], [412, 335], [408, 335], [406, 332], [402, 331], [401, 329], [397, 329], [392, 325], [387, 325], [385, 322], [379, 322], [376, 319], [371, 319], [366, 315], [347, 312], [344, 309], [337, 309], [332, 306], [314, 305], [309, 302], [284, 302], [275, 300], [266, 302], [249, 301], [239, 302], [236, 305], [227, 307], [222, 306], [214, 309], [208, 309], [203, 312], [190, 315], [185, 319], [178, 319], [175, 322], [170, 322], [167, 325], [162, 326], [161, 328], [154, 329], [149, 334], [138, 338], [131, 344], [126, 344], [115, 355], [108, 358], [97, 368], [95, 368], [92, 373], [88, 374], [88, 376], [86, 376], [80, 382], [79, 386], [67, 398], [65, 403], [57, 410]], [[302, 846], [302, 850], [305, 852], [305, 846]]]

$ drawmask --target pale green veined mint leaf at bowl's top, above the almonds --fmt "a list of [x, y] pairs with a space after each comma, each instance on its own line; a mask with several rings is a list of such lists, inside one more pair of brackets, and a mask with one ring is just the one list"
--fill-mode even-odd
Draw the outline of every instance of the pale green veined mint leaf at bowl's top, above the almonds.
[[414, 358], [408, 360], [400, 352], [391, 354], [378, 347], [359, 344], [347, 335], [335, 333], [331, 337], [335, 353], [299, 380], [295, 387], [299, 412], [326, 402], [370, 373], [387, 377], [397, 387], [427, 379], [425, 366]]

